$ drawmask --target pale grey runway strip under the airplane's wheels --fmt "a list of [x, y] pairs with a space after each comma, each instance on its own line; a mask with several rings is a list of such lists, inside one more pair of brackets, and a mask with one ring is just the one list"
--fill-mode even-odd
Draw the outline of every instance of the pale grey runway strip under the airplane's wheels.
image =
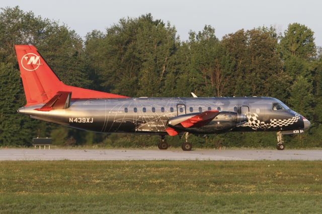
[[4, 160], [322, 160], [322, 150], [0, 149]]

